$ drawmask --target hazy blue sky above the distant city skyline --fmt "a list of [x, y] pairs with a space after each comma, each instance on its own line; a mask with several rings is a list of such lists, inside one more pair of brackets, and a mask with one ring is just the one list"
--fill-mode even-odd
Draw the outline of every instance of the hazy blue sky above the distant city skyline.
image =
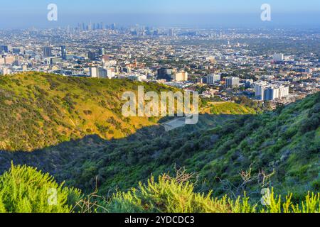
[[[48, 21], [48, 4], [58, 21]], [[261, 21], [270, 4], [272, 21]], [[0, 0], [0, 28], [75, 26], [320, 26], [319, 0]]]

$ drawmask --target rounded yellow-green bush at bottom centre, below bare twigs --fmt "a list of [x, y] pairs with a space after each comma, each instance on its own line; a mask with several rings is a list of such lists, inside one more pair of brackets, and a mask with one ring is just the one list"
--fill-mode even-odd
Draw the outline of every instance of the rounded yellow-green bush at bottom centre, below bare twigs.
[[166, 175], [155, 182], [152, 177], [147, 185], [139, 189], [114, 194], [107, 204], [110, 212], [156, 212], [156, 213], [217, 213], [229, 212], [225, 199], [213, 200], [210, 194], [204, 196], [193, 192], [193, 184], [178, 182]]

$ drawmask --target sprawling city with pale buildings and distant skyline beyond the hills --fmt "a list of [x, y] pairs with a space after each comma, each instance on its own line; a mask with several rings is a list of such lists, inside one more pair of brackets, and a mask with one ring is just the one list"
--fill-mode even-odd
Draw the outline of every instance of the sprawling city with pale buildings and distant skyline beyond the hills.
[[[283, 42], [285, 51], [268, 44], [281, 38], [289, 42]], [[0, 31], [0, 74], [132, 79], [197, 91], [208, 99], [246, 96], [277, 106], [319, 92], [319, 53], [288, 48], [290, 42], [319, 45], [319, 40], [318, 33], [286, 30], [103, 23]]]

